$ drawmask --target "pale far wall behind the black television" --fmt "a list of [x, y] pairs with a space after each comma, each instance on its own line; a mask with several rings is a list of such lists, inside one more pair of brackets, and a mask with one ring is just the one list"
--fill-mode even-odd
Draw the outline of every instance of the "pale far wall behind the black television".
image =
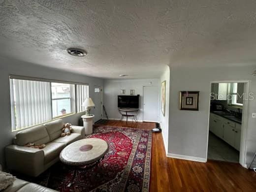
[[[149, 84], [152, 82], [152, 84]], [[126, 95], [130, 94], [130, 90], [135, 90], [135, 95], [140, 95], [140, 113], [137, 116], [138, 121], [142, 121], [143, 115], [143, 86], [157, 86], [160, 87], [159, 79], [116, 79], [104, 80], [103, 89], [103, 104], [106, 108], [108, 118], [120, 119], [121, 115], [118, 112], [117, 96], [121, 95], [120, 90], [125, 89]], [[160, 111], [160, 106], [159, 106]], [[133, 118], [128, 118], [132, 120]]]

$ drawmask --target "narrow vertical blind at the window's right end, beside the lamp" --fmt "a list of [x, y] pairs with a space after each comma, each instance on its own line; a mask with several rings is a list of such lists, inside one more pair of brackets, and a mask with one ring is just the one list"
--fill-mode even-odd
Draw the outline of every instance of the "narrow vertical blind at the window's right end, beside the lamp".
[[84, 100], [89, 97], [88, 85], [77, 85], [76, 87], [76, 108], [77, 112], [85, 111], [85, 107], [82, 106]]

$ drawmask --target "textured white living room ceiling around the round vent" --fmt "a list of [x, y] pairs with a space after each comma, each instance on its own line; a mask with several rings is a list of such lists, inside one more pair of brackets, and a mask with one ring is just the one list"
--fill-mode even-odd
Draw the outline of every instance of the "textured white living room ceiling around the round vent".
[[4, 57], [103, 78], [256, 65], [256, 1], [0, 0], [0, 45]]

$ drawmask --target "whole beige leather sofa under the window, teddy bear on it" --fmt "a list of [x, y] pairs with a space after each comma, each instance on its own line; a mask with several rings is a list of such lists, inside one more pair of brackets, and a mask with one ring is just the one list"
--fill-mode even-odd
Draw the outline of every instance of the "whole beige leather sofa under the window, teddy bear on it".
[[[18, 132], [14, 144], [5, 147], [7, 168], [36, 177], [57, 162], [66, 145], [85, 137], [84, 127], [79, 126], [72, 126], [70, 135], [60, 137], [63, 125], [59, 119]], [[24, 147], [27, 143], [46, 147], [41, 150]]]

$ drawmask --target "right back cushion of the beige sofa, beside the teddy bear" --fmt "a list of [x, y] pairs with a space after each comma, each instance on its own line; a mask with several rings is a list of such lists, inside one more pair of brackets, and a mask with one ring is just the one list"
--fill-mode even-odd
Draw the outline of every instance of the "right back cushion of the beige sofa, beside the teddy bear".
[[57, 119], [55, 121], [46, 123], [44, 124], [44, 127], [50, 136], [50, 140], [53, 141], [54, 139], [59, 138], [62, 134], [62, 128], [64, 127], [63, 120]]

